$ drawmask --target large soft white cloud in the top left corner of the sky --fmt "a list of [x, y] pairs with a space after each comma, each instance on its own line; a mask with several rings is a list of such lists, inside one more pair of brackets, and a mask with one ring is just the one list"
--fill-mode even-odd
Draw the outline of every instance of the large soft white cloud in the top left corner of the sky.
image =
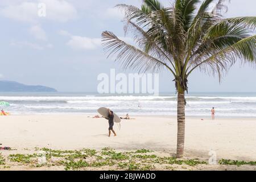
[[[38, 16], [39, 3], [46, 4], [46, 16]], [[0, 10], [0, 15], [22, 22], [38, 22], [40, 19], [67, 22], [77, 18], [77, 10], [71, 3], [63, 0], [40, 0], [9, 5]]]

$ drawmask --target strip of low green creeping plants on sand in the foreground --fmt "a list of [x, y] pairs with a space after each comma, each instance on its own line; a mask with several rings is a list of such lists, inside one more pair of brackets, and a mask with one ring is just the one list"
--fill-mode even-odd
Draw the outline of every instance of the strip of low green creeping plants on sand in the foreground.
[[[150, 171], [160, 166], [161, 169], [191, 170], [192, 167], [207, 165], [207, 162], [199, 159], [177, 159], [174, 157], [162, 157], [154, 151], [142, 149], [137, 151], [117, 152], [112, 148], [102, 148], [100, 151], [91, 149], [82, 150], [51, 150], [49, 148], [36, 148], [38, 154], [10, 154], [3, 156], [0, 154], [0, 166], [11, 168], [11, 166], [30, 167], [63, 167], [65, 170], [86, 170], [86, 169], [108, 169], [127, 171]], [[44, 154], [40, 153], [44, 152]], [[148, 154], [150, 153], [150, 154]], [[39, 158], [46, 156], [46, 163], [38, 163]], [[237, 160], [221, 159], [220, 165], [251, 165], [256, 166], [256, 162], [244, 162]], [[161, 167], [162, 166], [162, 167]]]

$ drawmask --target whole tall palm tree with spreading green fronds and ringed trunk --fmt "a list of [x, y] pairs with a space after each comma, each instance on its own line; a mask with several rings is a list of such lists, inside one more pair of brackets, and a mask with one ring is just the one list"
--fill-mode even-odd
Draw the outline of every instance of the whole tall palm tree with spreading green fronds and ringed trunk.
[[[214, 3], [214, 4], [213, 4]], [[237, 60], [256, 59], [256, 17], [224, 18], [225, 0], [175, 0], [164, 7], [157, 0], [143, 0], [141, 9], [117, 5], [125, 11], [125, 33], [137, 46], [102, 32], [108, 56], [116, 56], [124, 69], [174, 76], [177, 92], [177, 158], [184, 154], [185, 93], [188, 77], [200, 69], [222, 77]], [[214, 7], [213, 7], [214, 5]]]

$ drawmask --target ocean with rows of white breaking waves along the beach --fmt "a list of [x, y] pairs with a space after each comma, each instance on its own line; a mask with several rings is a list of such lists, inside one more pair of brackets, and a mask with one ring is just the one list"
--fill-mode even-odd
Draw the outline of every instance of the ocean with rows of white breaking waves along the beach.
[[[189, 93], [186, 96], [186, 115], [210, 117], [212, 107], [216, 117], [256, 118], [256, 93]], [[2, 107], [12, 115], [29, 114], [88, 114], [96, 115], [99, 107], [109, 107], [125, 115], [176, 115], [175, 93], [159, 96], [142, 94], [97, 93], [0, 93], [0, 101], [10, 103]], [[141, 106], [141, 107], [139, 107]]]

